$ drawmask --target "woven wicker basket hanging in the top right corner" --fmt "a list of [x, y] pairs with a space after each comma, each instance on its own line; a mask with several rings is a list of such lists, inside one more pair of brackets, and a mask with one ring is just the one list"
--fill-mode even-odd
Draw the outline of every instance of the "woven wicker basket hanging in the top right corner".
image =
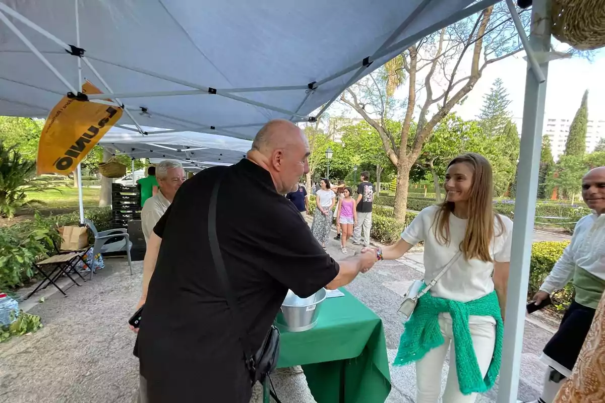
[[605, 0], [552, 0], [552, 35], [577, 50], [605, 47]]

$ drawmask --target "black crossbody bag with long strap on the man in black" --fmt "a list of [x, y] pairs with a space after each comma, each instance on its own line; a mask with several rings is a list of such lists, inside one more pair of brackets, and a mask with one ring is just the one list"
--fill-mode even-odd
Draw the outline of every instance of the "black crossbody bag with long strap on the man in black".
[[218, 178], [217, 183], [212, 189], [210, 196], [210, 206], [208, 211], [208, 239], [210, 242], [210, 250], [212, 259], [217, 270], [218, 277], [223, 285], [223, 292], [227, 298], [227, 305], [231, 311], [232, 323], [234, 326], [240, 326], [238, 332], [240, 334], [240, 343], [246, 359], [246, 368], [250, 373], [250, 381], [254, 384], [256, 381], [264, 382], [264, 379], [271, 373], [277, 365], [277, 359], [280, 355], [280, 330], [275, 326], [271, 326], [269, 332], [263, 340], [260, 349], [253, 353], [252, 347], [249, 344], [248, 334], [240, 309], [235, 299], [235, 294], [229, 282], [229, 275], [224, 266], [223, 256], [218, 245], [217, 237], [217, 198], [218, 189], [220, 188], [222, 177]]

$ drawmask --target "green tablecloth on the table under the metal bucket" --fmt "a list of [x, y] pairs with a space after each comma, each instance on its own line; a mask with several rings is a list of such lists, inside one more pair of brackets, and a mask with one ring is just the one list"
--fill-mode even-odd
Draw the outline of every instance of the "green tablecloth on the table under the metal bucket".
[[281, 334], [278, 367], [301, 365], [317, 403], [383, 403], [391, 376], [382, 320], [341, 291], [321, 305], [313, 329]]

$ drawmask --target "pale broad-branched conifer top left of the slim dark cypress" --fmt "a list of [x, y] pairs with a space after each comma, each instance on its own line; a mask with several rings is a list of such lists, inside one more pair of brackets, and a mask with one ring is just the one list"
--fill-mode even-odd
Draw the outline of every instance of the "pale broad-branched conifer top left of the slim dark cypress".
[[489, 92], [483, 95], [483, 108], [477, 115], [479, 126], [488, 136], [501, 134], [511, 118], [508, 112], [511, 100], [503, 84], [502, 80], [495, 79]]

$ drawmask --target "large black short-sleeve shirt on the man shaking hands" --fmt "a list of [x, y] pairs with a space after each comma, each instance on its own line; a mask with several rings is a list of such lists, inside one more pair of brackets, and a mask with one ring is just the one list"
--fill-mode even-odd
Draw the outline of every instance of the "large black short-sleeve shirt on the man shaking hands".
[[338, 263], [275, 191], [267, 170], [244, 159], [186, 181], [154, 228], [162, 244], [139, 330], [151, 403], [250, 399], [240, 335], [208, 243], [209, 199], [219, 176], [218, 242], [253, 349], [288, 289], [307, 297], [338, 274]]

